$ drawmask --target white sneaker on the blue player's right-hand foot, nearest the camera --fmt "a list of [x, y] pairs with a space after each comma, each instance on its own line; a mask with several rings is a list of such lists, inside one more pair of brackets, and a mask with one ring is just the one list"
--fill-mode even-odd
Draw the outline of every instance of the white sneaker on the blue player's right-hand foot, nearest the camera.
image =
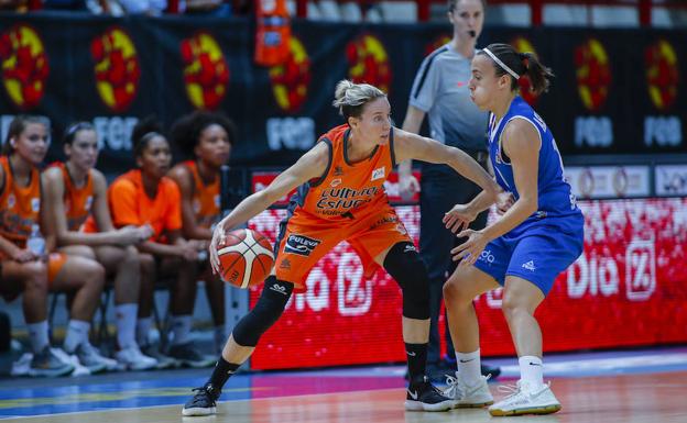
[[550, 382], [535, 388], [519, 380], [515, 386], [501, 386], [499, 390], [510, 394], [489, 408], [491, 415], [550, 414], [560, 410]]

